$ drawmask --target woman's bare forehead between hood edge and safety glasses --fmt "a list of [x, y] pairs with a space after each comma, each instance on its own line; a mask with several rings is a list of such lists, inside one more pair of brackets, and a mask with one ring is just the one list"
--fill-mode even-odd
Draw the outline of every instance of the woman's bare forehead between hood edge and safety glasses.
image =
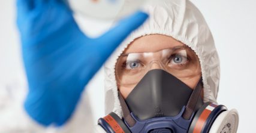
[[173, 48], [184, 46], [182, 42], [177, 41], [171, 36], [165, 35], [146, 35], [135, 39], [127, 49], [123, 52], [124, 54], [132, 52], [155, 52], [166, 48]]

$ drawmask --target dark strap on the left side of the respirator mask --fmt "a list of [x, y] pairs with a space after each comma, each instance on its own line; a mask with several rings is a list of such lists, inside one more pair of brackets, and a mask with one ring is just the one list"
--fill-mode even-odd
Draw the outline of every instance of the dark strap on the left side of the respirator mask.
[[124, 119], [127, 122], [127, 124], [129, 125], [129, 127], [132, 127], [135, 125], [135, 120], [133, 119], [133, 117], [131, 116], [131, 113], [129, 112], [127, 103], [125, 103], [124, 97], [122, 96], [121, 92], [118, 91], [118, 95], [119, 95], [119, 101], [124, 113]]

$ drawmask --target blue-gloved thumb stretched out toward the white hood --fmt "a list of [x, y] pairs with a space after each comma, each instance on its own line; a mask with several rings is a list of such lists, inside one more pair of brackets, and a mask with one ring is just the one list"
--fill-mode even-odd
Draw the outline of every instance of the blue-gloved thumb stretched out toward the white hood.
[[109, 57], [110, 54], [124, 41], [125, 38], [133, 30], [137, 29], [147, 19], [148, 15], [142, 11], [137, 11], [128, 18], [119, 21], [119, 24], [109, 32], [100, 36], [97, 40], [103, 41], [98, 43], [98, 50], [103, 52], [105, 57]]

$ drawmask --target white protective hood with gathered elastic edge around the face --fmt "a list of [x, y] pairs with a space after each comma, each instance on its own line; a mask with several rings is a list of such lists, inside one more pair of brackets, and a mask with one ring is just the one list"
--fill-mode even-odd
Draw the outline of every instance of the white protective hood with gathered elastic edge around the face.
[[152, 34], [171, 36], [195, 51], [201, 64], [204, 102], [216, 103], [219, 58], [210, 29], [200, 11], [188, 0], [161, 0], [157, 4], [145, 5], [144, 11], [149, 14], [149, 19], [122, 42], [104, 66], [106, 114], [115, 112], [122, 116], [115, 79], [115, 64], [119, 55], [134, 39]]

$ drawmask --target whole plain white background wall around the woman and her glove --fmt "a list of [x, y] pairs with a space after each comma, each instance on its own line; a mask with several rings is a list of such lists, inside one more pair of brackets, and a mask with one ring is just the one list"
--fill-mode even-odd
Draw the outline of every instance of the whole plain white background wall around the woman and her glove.
[[[255, 132], [256, 1], [194, 0], [192, 2], [206, 18], [219, 52], [221, 82], [218, 102], [229, 109], [238, 110], [240, 115], [238, 132]], [[0, 1], [0, 89], [1, 86], [5, 88], [13, 84], [26, 84], [15, 19], [15, 1]], [[91, 30], [91, 35], [97, 35], [110, 23], [95, 24], [93, 21], [86, 21], [83, 25], [86, 26], [84, 28], [86, 31]], [[87, 26], [91, 29], [87, 29]], [[87, 86], [95, 120], [104, 116], [103, 75], [101, 69]]]

